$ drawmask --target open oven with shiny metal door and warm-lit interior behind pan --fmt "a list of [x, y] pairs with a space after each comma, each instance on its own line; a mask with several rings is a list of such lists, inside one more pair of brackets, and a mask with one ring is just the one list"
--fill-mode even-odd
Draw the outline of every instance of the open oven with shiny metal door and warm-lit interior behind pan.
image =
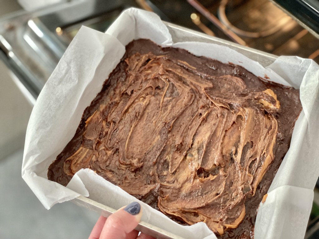
[[[34, 104], [82, 25], [105, 32], [126, 8], [138, 7], [238, 46], [319, 63], [317, 0], [87, 0], [19, 11], [0, 19], [0, 59]], [[319, 185], [317, 185], [319, 188]], [[306, 233], [319, 238], [319, 190]]]

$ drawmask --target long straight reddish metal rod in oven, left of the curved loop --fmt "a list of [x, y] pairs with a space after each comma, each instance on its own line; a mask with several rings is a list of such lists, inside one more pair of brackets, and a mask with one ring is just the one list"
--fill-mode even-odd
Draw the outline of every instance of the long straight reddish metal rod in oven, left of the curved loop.
[[235, 33], [230, 31], [224, 24], [222, 24], [218, 18], [216, 18], [210, 11], [208, 11], [202, 4], [200, 4], [197, 0], [187, 0], [189, 4], [191, 4], [197, 11], [203, 14], [208, 20], [211, 21], [212, 24], [217, 26], [220, 30], [222, 30], [231, 40], [234, 42], [246, 46], [246, 42], [242, 40]]

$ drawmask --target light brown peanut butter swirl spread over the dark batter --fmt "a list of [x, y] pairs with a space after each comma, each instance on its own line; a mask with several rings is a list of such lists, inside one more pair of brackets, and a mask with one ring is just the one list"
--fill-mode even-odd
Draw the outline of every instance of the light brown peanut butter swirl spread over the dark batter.
[[236, 228], [274, 159], [274, 92], [165, 55], [136, 53], [125, 62], [126, 79], [85, 121], [64, 172], [90, 168], [134, 195], [159, 187], [165, 214], [204, 221], [220, 235]]

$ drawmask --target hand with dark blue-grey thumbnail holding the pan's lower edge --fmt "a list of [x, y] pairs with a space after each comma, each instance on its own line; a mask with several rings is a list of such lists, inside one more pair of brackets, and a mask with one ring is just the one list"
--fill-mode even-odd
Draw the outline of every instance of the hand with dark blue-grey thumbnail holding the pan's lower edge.
[[123, 206], [108, 218], [100, 216], [89, 239], [155, 239], [134, 230], [142, 217], [142, 208], [137, 202]]

